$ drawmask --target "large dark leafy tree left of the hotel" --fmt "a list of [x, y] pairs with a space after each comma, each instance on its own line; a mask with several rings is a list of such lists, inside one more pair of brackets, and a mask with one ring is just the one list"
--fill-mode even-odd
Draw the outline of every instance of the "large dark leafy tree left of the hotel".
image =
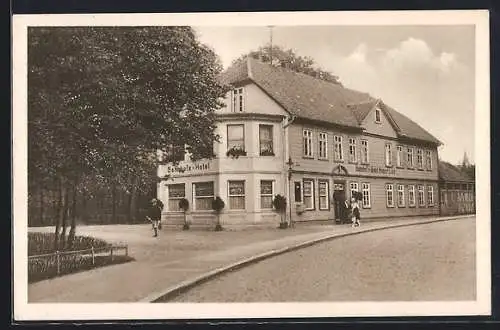
[[172, 145], [213, 156], [221, 71], [189, 27], [28, 29], [28, 179], [60, 192], [56, 237], [72, 187], [148, 189]]

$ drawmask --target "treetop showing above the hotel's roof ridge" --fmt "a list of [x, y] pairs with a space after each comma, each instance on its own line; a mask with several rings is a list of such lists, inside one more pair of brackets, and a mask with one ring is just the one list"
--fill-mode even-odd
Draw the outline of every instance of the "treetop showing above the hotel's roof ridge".
[[240, 56], [238, 59], [233, 61], [233, 64], [238, 61], [245, 60], [248, 56], [265, 63], [271, 63], [272, 58], [272, 63], [275, 65], [286, 67], [296, 72], [305, 73], [334, 84], [342, 85], [338, 76], [318, 68], [312, 58], [297, 55], [292, 49], [285, 50], [280, 46], [274, 45], [271, 47], [270, 44], [267, 44], [263, 47], [259, 47], [258, 50], [253, 50], [248, 54]]

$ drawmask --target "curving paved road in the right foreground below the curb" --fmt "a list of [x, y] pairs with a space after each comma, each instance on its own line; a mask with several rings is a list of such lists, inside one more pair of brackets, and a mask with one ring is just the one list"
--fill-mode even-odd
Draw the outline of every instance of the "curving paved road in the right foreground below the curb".
[[348, 236], [221, 276], [175, 302], [475, 300], [475, 218]]

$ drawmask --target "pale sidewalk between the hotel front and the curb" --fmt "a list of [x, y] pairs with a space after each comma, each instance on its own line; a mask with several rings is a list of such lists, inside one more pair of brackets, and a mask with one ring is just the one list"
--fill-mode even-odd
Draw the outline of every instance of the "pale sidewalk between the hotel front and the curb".
[[129, 254], [136, 261], [30, 284], [28, 302], [147, 302], [189, 286], [191, 279], [210, 272], [216, 275], [242, 260], [251, 262], [255, 256], [282, 253], [303, 243], [351, 233], [455, 218], [391, 219], [367, 222], [359, 228], [298, 225], [287, 230], [162, 231], [157, 239], [151, 237], [149, 225], [80, 227], [78, 235], [128, 244]]

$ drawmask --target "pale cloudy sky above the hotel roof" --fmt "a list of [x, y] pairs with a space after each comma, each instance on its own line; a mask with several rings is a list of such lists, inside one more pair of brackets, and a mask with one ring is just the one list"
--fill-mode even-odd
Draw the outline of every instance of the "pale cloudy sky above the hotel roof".
[[[269, 42], [268, 27], [195, 27], [224, 67]], [[349, 88], [380, 97], [474, 162], [473, 26], [275, 26], [273, 43], [312, 57]]]

